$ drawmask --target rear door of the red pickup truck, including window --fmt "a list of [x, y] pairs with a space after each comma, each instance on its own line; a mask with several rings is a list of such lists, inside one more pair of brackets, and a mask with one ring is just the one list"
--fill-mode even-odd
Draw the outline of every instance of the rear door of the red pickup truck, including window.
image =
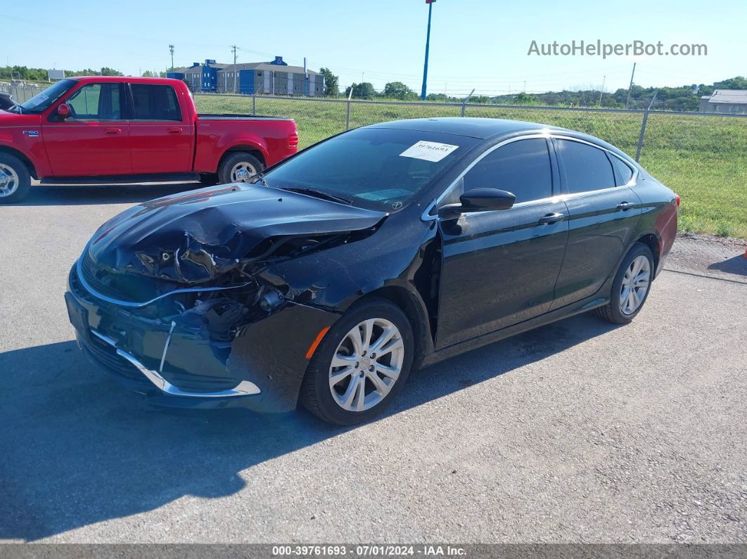
[[130, 84], [130, 145], [136, 175], [192, 170], [194, 125], [170, 85]]

